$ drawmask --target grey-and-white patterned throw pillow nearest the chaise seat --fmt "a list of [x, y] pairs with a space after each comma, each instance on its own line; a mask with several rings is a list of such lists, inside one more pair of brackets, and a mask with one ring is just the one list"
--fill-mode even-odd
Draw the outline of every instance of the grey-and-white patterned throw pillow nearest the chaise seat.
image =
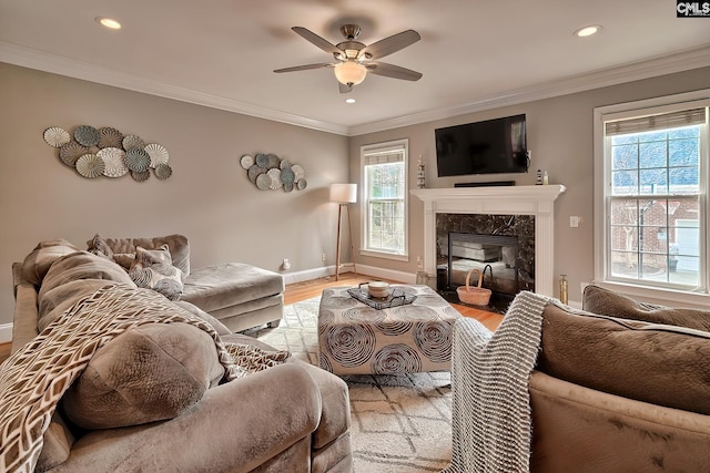
[[182, 271], [172, 265], [168, 245], [158, 249], [135, 247], [135, 261], [129, 276], [138, 287], [153, 289], [170, 300], [178, 300], [182, 295]]

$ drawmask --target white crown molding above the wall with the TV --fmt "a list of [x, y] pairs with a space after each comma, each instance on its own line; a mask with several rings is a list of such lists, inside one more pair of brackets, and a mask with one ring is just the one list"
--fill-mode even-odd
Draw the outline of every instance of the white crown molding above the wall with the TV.
[[419, 123], [449, 119], [452, 116], [465, 115], [467, 113], [481, 112], [501, 106], [517, 105], [554, 96], [585, 92], [625, 82], [639, 81], [642, 79], [704, 68], [708, 65], [710, 65], [710, 44], [629, 63], [618, 68], [574, 75], [559, 81], [546, 82], [536, 86], [493, 95], [463, 105], [423, 111], [390, 120], [351, 126], [348, 128], [348, 136], [382, 132], [400, 126], [416, 125]]

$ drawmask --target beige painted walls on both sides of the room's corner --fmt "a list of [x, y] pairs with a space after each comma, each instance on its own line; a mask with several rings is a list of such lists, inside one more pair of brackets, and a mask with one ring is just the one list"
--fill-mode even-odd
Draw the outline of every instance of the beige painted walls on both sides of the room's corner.
[[[290, 258], [291, 271], [303, 271], [323, 267], [323, 251], [333, 265], [337, 213], [327, 202], [327, 186], [359, 182], [364, 144], [408, 138], [413, 186], [419, 154], [427, 161], [427, 187], [505, 178], [534, 184], [534, 172], [436, 177], [436, 127], [516, 113], [528, 115], [531, 171], [548, 169], [551, 183], [567, 186], [556, 206], [555, 271], [569, 276], [570, 300], [578, 301], [580, 282], [594, 277], [594, 107], [706, 89], [708, 78], [710, 68], [704, 68], [347, 138], [0, 63], [0, 325], [12, 320], [10, 265], [42, 239], [61, 237], [82, 246], [95, 233], [183, 233], [191, 239], [195, 267], [240, 260], [278, 270]], [[113, 126], [164, 145], [173, 176], [146, 183], [128, 176], [80, 177], [42, 140], [48, 126], [79, 124]], [[257, 191], [239, 165], [242, 154], [255, 152], [301, 164], [307, 189]], [[409, 215], [408, 263], [359, 256], [357, 263], [415, 274], [416, 257], [424, 253], [419, 200], [409, 200]], [[570, 215], [582, 218], [579, 228], [569, 227]], [[353, 207], [356, 248], [358, 220]], [[346, 243], [344, 248], [347, 254]]]

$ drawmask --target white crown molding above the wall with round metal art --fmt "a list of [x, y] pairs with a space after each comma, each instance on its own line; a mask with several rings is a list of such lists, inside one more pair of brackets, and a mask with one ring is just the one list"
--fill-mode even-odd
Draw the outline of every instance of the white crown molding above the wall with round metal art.
[[29, 69], [37, 69], [89, 82], [97, 82], [104, 85], [112, 85], [133, 92], [141, 92], [196, 105], [204, 105], [212, 109], [224, 110], [227, 112], [240, 113], [257, 119], [271, 120], [274, 122], [303, 126], [338, 135], [347, 134], [347, 126], [344, 125], [322, 122], [301, 115], [266, 109], [247, 102], [241, 102], [156, 81], [150, 81], [131, 74], [113, 71], [108, 68], [90, 64], [88, 62], [77, 61], [58, 54], [49, 54], [47, 52], [20, 47], [4, 41], [0, 41], [0, 62], [7, 62], [9, 64]]

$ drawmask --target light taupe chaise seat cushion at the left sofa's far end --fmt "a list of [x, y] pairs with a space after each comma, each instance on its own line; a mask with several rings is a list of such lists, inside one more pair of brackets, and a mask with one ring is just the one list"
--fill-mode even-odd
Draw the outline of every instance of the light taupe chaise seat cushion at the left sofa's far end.
[[214, 312], [283, 291], [280, 274], [244, 263], [225, 263], [194, 270], [185, 279], [182, 299]]

